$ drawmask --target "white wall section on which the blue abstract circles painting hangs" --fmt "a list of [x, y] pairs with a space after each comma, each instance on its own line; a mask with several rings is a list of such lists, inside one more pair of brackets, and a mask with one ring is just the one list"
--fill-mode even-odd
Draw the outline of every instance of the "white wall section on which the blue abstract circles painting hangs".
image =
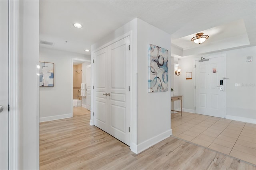
[[[170, 35], [138, 19], [137, 69], [138, 69], [138, 151], [155, 144], [171, 132], [171, 57]], [[148, 93], [148, 44], [168, 49], [168, 91]]]

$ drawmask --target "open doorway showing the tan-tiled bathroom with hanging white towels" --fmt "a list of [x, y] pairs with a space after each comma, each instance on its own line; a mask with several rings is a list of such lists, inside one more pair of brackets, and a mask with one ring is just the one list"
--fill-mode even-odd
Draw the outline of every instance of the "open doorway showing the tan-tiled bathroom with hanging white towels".
[[88, 60], [72, 59], [72, 116], [90, 114], [87, 85], [91, 79], [91, 73], [87, 69], [89, 65]]

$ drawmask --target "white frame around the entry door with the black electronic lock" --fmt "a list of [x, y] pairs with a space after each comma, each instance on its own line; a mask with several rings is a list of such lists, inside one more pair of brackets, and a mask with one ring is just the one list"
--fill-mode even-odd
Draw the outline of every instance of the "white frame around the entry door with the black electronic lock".
[[[218, 55], [208, 55], [208, 56], [201, 56], [206, 59], [212, 59], [212, 58], [217, 58], [217, 57], [224, 57], [224, 79], [223, 79], [223, 91], [224, 91], [224, 118], [226, 119], [226, 54], [218, 54]], [[194, 64], [196, 61], [201, 60], [201, 57], [195, 58], [194, 59]], [[194, 68], [194, 73], [195, 73], [195, 78], [194, 78], [194, 86], [196, 85], [196, 68]], [[196, 107], [196, 89], [194, 88], [194, 107]], [[194, 109], [194, 113], [196, 113], [196, 110]]]

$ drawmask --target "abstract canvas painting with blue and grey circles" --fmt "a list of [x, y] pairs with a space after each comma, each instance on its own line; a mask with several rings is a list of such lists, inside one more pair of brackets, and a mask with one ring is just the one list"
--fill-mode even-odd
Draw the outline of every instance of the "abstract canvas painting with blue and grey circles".
[[148, 92], [168, 91], [168, 50], [148, 45]]

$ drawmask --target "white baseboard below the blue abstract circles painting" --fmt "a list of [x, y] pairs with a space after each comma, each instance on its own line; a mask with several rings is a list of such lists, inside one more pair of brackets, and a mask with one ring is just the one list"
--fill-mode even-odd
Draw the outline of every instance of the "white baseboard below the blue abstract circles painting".
[[155, 137], [152, 137], [138, 145], [132, 145], [132, 146], [130, 146], [130, 149], [132, 150], [132, 152], [138, 154], [138, 153], [148, 149], [149, 147], [152, 147], [153, 145], [159, 143], [160, 141], [170, 137], [171, 134], [172, 134], [172, 129], [170, 129], [164, 133], [161, 133]]

